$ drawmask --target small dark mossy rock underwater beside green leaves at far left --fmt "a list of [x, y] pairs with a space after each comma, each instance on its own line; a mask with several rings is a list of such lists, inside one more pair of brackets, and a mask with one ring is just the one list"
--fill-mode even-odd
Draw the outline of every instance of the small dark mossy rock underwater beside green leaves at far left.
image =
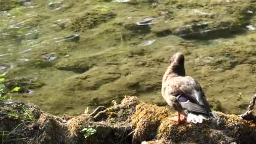
[[45, 83], [40, 82], [40, 80], [35, 77], [16, 77], [11, 80], [6, 80], [5, 85], [10, 90], [15, 87], [20, 87], [19, 93], [27, 93], [29, 89], [41, 88]]

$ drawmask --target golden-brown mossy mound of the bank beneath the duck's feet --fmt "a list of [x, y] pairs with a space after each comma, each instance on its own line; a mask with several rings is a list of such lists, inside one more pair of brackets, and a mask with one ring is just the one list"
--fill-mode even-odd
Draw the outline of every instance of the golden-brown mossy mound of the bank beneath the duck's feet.
[[150, 104], [139, 104], [131, 122], [136, 128], [133, 134], [133, 144], [152, 139], [162, 141], [156, 144], [168, 144], [166, 141], [196, 144], [254, 143], [255, 123], [245, 121], [236, 115], [224, 115], [221, 112], [217, 112], [217, 115], [219, 116], [217, 120], [197, 124], [188, 122], [178, 124], [167, 119], [173, 116], [168, 109]]

